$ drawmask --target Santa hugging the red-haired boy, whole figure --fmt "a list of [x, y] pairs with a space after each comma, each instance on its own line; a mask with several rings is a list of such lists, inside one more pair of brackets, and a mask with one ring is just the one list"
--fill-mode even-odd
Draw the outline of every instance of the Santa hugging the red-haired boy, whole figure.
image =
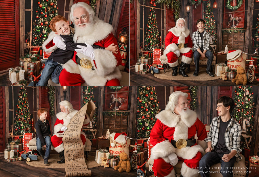
[[[86, 3], [75, 3], [71, 7], [70, 19], [75, 26], [74, 42], [86, 43], [85, 46], [77, 46], [73, 60], [63, 65], [59, 76], [61, 85], [81, 85], [86, 82], [95, 86], [119, 86], [121, 72], [120, 52], [113, 54], [108, 50], [93, 49], [95, 44], [101, 47], [108, 47], [110, 44], [117, 44], [113, 36], [113, 27], [109, 23], [94, 16], [94, 10]], [[73, 30], [72, 30], [73, 31]], [[88, 45], [89, 44], [89, 45]], [[54, 32], [49, 34], [48, 39], [43, 43], [46, 52], [53, 52], [57, 48], [65, 50], [62, 38]], [[80, 64], [77, 64], [77, 57]], [[82, 61], [82, 62], [81, 62]]]

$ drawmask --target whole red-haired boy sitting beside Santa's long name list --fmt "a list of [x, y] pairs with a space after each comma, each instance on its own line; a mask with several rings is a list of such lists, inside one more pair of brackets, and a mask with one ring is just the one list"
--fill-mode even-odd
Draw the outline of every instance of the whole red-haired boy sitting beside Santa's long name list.
[[[38, 116], [39, 116], [39, 119], [35, 124], [35, 129], [37, 133], [36, 134], [37, 151], [44, 159], [44, 165], [49, 165], [48, 159], [49, 159], [50, 148], [51, 148], [51, 141], [50, 141], [51, 133], [50, 133], [49, 121], [46, 120], [47, 110], [45, 108], [39, 109]], [[42, 146], [46, 148], [45, 155], [42, 150]]]

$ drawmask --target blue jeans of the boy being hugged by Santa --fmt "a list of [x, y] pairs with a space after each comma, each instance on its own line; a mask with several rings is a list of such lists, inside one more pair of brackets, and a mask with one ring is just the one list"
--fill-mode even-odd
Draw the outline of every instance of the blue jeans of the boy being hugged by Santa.
[[53, 59], [46, 60], [45, 67], [41, 72], [39, 82], [36, 84], [36, 86], [46, 86], [48, 84], [48, 80], [50, 76], [51, 76], [51, 80], [56, 84], [58, 84], [59, 83], [58, 77], [62, 69], [63, 69], [62, 66], [58, 64], [58, 62], [54, 62]]

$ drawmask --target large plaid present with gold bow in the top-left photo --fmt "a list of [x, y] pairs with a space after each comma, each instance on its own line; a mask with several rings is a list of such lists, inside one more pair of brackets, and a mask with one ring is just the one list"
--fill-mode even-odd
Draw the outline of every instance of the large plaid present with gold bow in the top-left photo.
[[33, 80], [33, 76], [30, 75], [31, 72], [33, 72], [33, 75], [38, 76], [40, 69], [41, 69], [42, 63], [40, 61], [36, 62], [25, 62], [25, 61], [20, 61], [20, 67], [25, 70], [25, 78], [29, 80]]

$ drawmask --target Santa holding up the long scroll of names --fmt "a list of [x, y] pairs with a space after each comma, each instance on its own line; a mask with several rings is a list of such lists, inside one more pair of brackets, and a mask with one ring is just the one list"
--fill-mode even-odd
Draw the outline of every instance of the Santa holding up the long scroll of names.
[[[64, 157], [64, 143], [62, 141], [62, 137], [64, 136], [64, 132], [67, 130], [67, 126], [73, 116], [77, 113], [77, 110], [73, 109], [73, 106], [68, 101], [61, 101], [60, 103], [61, 112], [56, 114], [57, 120], [54, 124], [54, 134], [51, 137], [51, 143], [54, 146], [56, 152], [60, 153], [61, 160], [58, 161], [59, 164], [65, 162]], [[83, 122], [83, 126], [88, 125], [90, 122], [89, 118], [85, 118]], [[83, 149], [85, 148], [86, 136], [85, 133], [81, 131], [81, 140], [83, 142]]]

